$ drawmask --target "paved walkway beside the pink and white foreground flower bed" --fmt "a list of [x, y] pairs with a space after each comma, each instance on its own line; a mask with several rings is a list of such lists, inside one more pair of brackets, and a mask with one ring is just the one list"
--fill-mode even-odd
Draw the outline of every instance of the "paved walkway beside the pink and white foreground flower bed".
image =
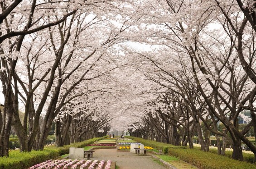
[[151, 155], [136, 155], [130, 152], [119, 152], [116, 149], [97, 149], [91, 160], [116, 161], [119, 169], [165, 169], [153, 161]]

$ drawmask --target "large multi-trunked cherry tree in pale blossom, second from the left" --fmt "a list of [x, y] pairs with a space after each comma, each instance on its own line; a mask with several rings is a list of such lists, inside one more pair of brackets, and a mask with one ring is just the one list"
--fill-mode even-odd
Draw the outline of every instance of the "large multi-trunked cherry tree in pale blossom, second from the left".
[[[25, 118], [24, 125], [22, 125], [19, 121], [18, 114], [12, 114], [11, 112], [14, 112], [12, 110], [8, 111], [9, 113], [6, 113], [9, 119], [7, 121], [8, 125], [6, 126], [4, 124], [3, 129], [10, 130], [8, 128], [12, 123], [12, 118], [14, 118], [14, 126], [19, 131], [17, 133], [19, 133], [18, 137], [21, 143], [20, 150], [31, 151], [33, 146], [34, 149], [43, 149], [54, 117], [56, 117], [68, 101], [72, 100], [72, 97], [69, 97], [69, 100], [66, 100], [66, 98], [70, 92], [75, 90], [75, 87], [79, 83], [101, 77], [112, 69], [115, 69], [115, 65], [107, 67], [104, 64], [111, 61], [107, 57], [112, 55], [115, 45], [121, 41], [126, 41], [125, 37], [121, 38], [119, 35], [124, 34], [123, 32], [126, 32], [126, 30], [129, 31], [131, 22], [130, 18], [127, 17], [120, 19], [120, 9], [125, 4], [119, 0], [111, 3], [105, 2], [105, 0], [97, 2], [79, 0], [73, 2], [54, 1], [39, 4], [34, 0], [33, 2], [25, 1], [24, 4], [23, 2], [20, 2], [20, 4], [17, 3], [18, 1], [15, 1], [14, 4], [10, 5], [9, 9], [13, 8], [14, 15], [10, 17], [10, 23], [8, 24], [12, 24], [13, 18], [20, 18], [20, 25], [18, 26], [19, 23], [14, 23], [13, 25], [16, 26], [17, 30], [23, 30], [23, 27], [24, 30], [23, 32], [16, 31], [14, 33], [9, 31], [9, 33], [9, 26], [7, 26], [7, 33], [2, 36], [2, 39], [13, 37], [9, 39], [12, 45], [8, 46], [5, 43], [5, 46], [8, 46], [8, 48], [2, 47], [2, 49], [5, 49], [2, 53], [10, 53], [11, 55], [2, 57], [2, 66], [7, 69], [7, 71], [3, 69], [4, 73], [8, 72], [8, 65], [10, 65], [10, 68], [14, 72], [16, 63], [22, 61], [23, 63], [21, 64], [24, 64], [27, 68], [28, 74], [25, 76], [28, 76], [29, 80], [24, 78], [23, 70], [19, 70], [20, 74], [15, 72], [15, 76], [10, 74], [9, 80], [5, 79], [5, 74], [1, 74], [3, 75], [1, 80], [3, 84], [9, 82], [8, 85], [11, 88], [11, 79], [14, 79], [14, 92], [5, 95], [5, 102], [7, 103], [7, 100], [9, 100], [9, 105], [15, 103], [14, 108], [18, 110], [19, 94], [25, 104]], [[52, 5], [50, 9], [47, 8], [49, 4]], [[3, 2], [3, 5], [8, 6], [9, 4]], [[14, 5], [20, 6], [15, 8]], [[38, 10], [41, 11], [37, 14], [34, 14], [34, 12], [29, 14], [28, 26], [22, 25], [24, 23], [22, 19], [25, 19], [24, 13], [20, 12], [22, 5], [27, 5], [26, 7], [31, 8], [31, 10], [37, 9], [35, 10], [36, 12]], [[129, 6], [129, 9], [131, 9], [131, 6]], [[42, 11], [45, 11], [45, 13], [42, 13]], [[39, 18], [36, 19], [33, 14]], [[70, 17], [67, 18], [68, 16]], [[35, 19], [35, 23], [32, 23], [33, 19]], [[43, 26], [40, 27], [40, 24]], [[35, 25], [39, 27], [34, 28]], [[56, 26], [51, 27], [54, 25]], [[47, 27], [48, 31], [44, 31], [43, 28]], [[101, 32], [101, 35], [98, 34], [99, 32]], [[26, 34], [31, 33], [34, 34], [25, 37]], [[19, 35], [23, 37], [15, 37]], [[22, 46], [23, 41], [29, 41], [31, 43]], [[36, 49], [36, 51], [34, 52], [33, 49]], [[42, 58], [44, 56], [46, 57]], [[14, 58], [14, 64], [5, 62], [4, 57], [9, 57], [11, 61]], [[104, 70], [104, 68], [107, 69]], [[36, 72], [38, 70], [43, 71], [43, 73]], [[68, 79], [72, 80], [69, 81]], [[70, 82], [73, 82], [73, 84]], [[19, 85], [23, 91], [19, 90]], [[4, 86], [4, 91], [10, 91], [9, 88]], [[77, 94], [73, 98], [82, 94]], [[11, 98], [10, 96], [14, 96], [15, 101], [8, 99]], [[59, 97], [60, 99], [58, 99]], [[10, 109], [12, 106], [9, 107], [6, 103], [5, 108]], [[42, 131], [39, 131], [39, 118], [42, 111], [45, 111], [46, 114], [44, 116]], [[7, 110], [4, 112], [7, 112]], [[29, 137], [27, 137], [28, 118]], [[4, 113], [4, 122], [5, 119]], [[6, 134], [6, 136], [8, 135], [8, 132], [2, 133]], [[5, 138], [7, 142], [8, 137]]]

